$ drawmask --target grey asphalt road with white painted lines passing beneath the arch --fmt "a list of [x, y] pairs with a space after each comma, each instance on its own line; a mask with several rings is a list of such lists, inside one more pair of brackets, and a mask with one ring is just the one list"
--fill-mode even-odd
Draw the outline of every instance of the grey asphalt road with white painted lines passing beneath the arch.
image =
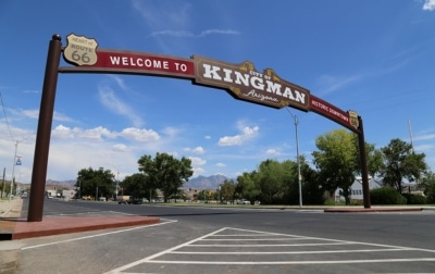
[[110, 211], [159, 216], [161, 223], [15, 241], [21, 247], [18, 272], [435, 271], [435, 211], [324, 213], [310, 209], [125, 205], [53, 200], [45, 203], [45, 215]]

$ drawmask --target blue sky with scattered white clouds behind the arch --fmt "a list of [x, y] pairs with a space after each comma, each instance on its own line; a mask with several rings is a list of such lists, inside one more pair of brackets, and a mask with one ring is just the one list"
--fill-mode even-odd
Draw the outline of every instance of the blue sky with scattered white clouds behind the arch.
[[[30, 183], [48, 42], [53, 34], [100, 48], [229, 63], [251, 61], [362, 116], [377, 148], [410, 142], [435, 169], [435, 0], [23, 1], [0, 2], [0, 167]], [[69, 66], [62, 60], [61, 66]], [[296, 109], [299, 151], [340, 125]], [[192, 161], [194, 176], [236, 177], [266, 159], [296, 160], [287, 110], [235, 100], [189, 80], [60, 74], [48, 179], [100, 166], [120, 179], [144, 154]]]

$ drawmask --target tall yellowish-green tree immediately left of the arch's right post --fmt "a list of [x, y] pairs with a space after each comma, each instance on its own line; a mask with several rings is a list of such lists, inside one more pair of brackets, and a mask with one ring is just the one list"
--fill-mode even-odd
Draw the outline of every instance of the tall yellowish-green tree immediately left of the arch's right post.
[[356, 135], [345, 129], [336, 129], [315, 140], [319, 151], [312, 152], [319, 178], [331, 195], [343, 189], [346, 204], [350, 204], [351, 185], [359, 172]]

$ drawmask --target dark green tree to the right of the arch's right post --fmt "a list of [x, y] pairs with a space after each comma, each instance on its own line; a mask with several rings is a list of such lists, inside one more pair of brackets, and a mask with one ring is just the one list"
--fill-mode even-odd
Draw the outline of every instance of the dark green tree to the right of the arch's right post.
[[412, 146], [400, 139], [393, 139], [388, 146], [381, 149], [384, 157], [384, 167], [381, 171], [384, 184], [402, 194], [402, 180], [415, 182], [426, 171], [424, 153], [413, 152]]

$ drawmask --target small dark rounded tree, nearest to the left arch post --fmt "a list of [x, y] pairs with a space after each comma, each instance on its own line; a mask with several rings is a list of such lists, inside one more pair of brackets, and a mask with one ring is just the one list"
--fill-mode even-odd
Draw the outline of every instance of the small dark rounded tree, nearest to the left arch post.
[[[80, 187], [80, 197], [92, 196], [111, 198], [115, 192], [114, 175], [110, 170], [100, 167], [94, 170], [92, 167], [82, 169], [78, 171], [75, 187]], [[98, 197], [97, 197], [98, 195]]]

